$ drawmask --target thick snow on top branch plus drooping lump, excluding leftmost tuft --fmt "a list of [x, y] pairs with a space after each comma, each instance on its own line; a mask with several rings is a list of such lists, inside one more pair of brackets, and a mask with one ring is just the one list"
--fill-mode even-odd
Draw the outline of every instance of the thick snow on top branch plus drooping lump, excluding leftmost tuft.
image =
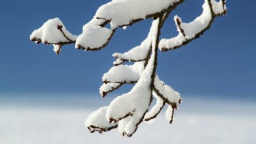
[[[76, 48], [98, 50], [108, 44], [118, 26], [125, 26], [132, 20], [145, 19], [147, 15], [162, 12], [179, 0], [113, 0], [100, 6], [94, 18], [84, 25], [83, 33], [78, 36]], [[110, 22], [111, 29], [102, 28]]]

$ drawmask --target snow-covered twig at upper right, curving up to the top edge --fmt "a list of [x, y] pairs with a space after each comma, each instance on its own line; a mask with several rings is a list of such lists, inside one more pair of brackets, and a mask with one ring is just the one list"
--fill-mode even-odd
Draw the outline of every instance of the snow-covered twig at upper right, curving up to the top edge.
[[[221, 15], [227, 10], [225, 4], [223, 4], [222, 1], [216, 2], [215, 0], [211, 0], [211, 4], [214, 15]], [[159, 42], [159, 49], [161, 51], [163, 51], [164, 48], [174, 49], [175, 47], [180, 47], [182, 44], [184, 44], [184, 42], [192, 40], [193, 38], [195, 38], [196, 35], [204, 32], [207, 29], [207, 27], [211, 23], [211, 20], [214, 19], [214, 17], [212, 17], [209, 0], [205, 0], [205, 3], [202, 7], [202, 14], [199, 17], [196, 17], [196, 19], [192, 22], [184, 23], [182, 22], [182, 19], [177, 15], [174, 17], [177, 31], [179, 31], [179, 35], [171, 39], [163, 38]]]

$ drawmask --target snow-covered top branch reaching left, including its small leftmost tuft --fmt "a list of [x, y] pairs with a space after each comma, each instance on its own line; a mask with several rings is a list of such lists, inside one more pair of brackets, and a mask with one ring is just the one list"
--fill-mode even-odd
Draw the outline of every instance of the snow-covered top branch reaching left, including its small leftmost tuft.
[[[160, 2], [161, 1], [161, 2]], [[97, 10], [93, 19], [84, 25], [79, 36], [70, 34], [60, 19], [50, 19], [33, 31], [30, 40], [40, 44], [54, 45], [54, 51], [60, 54], [61, 46], [75, 44], [76, 49], [98, 51], [108, 45], [117, 28], [132, 26], [143, 19], [159, 17], [161, 13], [170, 12], [184, 0], [148, 0], [148, 1], [111, 1]], [[149, 4], [149, 5], [146, 5]], [[111, 28], [104, 28], [111, 24]], [[59, 29], [63, 27], [63, 29]], [[63, 31], [61, 31], [63, 30]], [[62, 34], [61, 34], [62, 33]]]

